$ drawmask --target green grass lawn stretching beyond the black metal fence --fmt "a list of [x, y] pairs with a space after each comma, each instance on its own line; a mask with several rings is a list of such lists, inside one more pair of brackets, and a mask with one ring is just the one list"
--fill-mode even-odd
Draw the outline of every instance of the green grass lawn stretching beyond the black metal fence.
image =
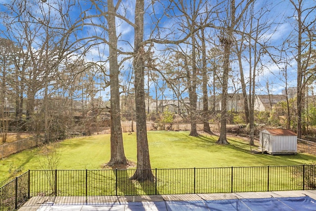
[[[148, 132], [152, 168], [209, 168], [240, 166], [301, 165], [315, 162], [316, 156], [252, 154], [246, 141], [229, 138], [230, 145], [218, 145], [217, 136], [190, 137], [189, 132]], [[124, 134], [128, 160], [136, 162], [136, 134]], [[252, 150], [256, 147], [252, 147]], [[100, 169], [110, 160], [110, 134], [80, 137], [59, 143], [58, 169]], [[0, 160], [0, 184], [10, 176], [42, 169], [43, 148], [24, 150]], [[40, 165], [40, 163], [42, 165]]]

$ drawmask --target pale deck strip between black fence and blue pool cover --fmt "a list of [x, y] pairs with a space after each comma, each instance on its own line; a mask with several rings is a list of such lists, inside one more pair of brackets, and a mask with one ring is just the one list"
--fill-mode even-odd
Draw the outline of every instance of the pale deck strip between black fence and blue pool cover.
[[146, 196], [89, 196], [85, 197], [32, 197], [19, 211], [37, 211], [41, 205], [109, 205], [128, 202], [152, 203], [159, 201], [199, 201], [223, 199], [250, 199], [271, 197], [302, 197], [309, 196], [316, 200], [316, 190], [271, 191], [271, 192], [241, 192], [212, 194], [179, 194], [179, 195], [146, 195]]

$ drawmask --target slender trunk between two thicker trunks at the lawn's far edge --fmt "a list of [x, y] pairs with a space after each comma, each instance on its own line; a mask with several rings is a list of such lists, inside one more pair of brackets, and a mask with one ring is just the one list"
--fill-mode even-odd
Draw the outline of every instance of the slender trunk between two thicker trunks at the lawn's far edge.
[[203, 91], [203, 131], [206, 133], [212, 133], [209, 127], [209, 110], [208, 110], [208, 96], [207, 96], [207, 67], [206, 67], [206, 47], [204, 29], [201, 30], [201, 42], [202, 42], [202, 91]]

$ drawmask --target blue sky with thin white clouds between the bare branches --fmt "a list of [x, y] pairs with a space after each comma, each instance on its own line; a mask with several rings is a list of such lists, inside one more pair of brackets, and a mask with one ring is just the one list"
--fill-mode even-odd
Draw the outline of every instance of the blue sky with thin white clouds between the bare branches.
[[[65, 0], [64, 2], [67, 2], [68, 0]], [[71, 0], [72, 1], [72, 0]], [[0, 0], [0, 4], [7, 3], [7, 0]], [[41, 6], [43, 11], [47, 9], [47, 4], [54, 4], [54, 2], [59, 2], [56, 0], [47, 0], [46, 2], [40, 2], [40, 0], [29, 0], [28, 1], [30, 5], [34, 6], [34, 11], [36, 11], [36, 6]], [[94, 6], [91, 6], [91, 2], [89, 0], [79, 0], [76, 1], [77, 4], [74, 6], [73, 9], [71, 9], [68, 13], [69, 20], [71, 20], [73, 23], [77, 20], [79, 20], [79, 15], [81, 11], [85, 11], [86, 15], [95, 15], [100, 13], [100, 11], [96, 10]], [[117, 1], [115, 0], [115, 3]], [[188, 33], [187, 29], [183, 29], [183, 24], [185, 23], [185, 18], [182, 16], [182, 13], [177, 9], [175, 2], [170, 2], [167, 0], [161, 0], [161, 1], [155, 1], [155, 3], [152, 5], [151, 0], [145, 0], [145, 33], [144, 33], [144, 39], [149, 38], [159, 38], [164, 39], [173, 39], [177, 40], [181, 37], [184, 37], [186, 33]], [[192, 1], [190, 0], [184, 0], [184, 3], [187, 5], [190, 5]], [[219, 3], [220, 1], [215, 0], [209, 0], [209, 1], [202, 1], [201, 4], [201, 14], [200, 17], [204, 17], [205, 15], [203, 12], [206, 11], [205, 3], [208, 3], [208, 11], [212, 10], [214, 13], [212, 13], [209, 17], [209, 22], [211, 22], [215, 26], [223, 26], [222, 21], [225, 19], [226, 15], [226, 8], [225, 3], [222, 3], [221, 6], [214, 5], [216, 3]], [[78, 5], [80, 4], [80, 6]], [[239, 1], [237, 0], [237, 3]], [[236, 3], [236, 4], [237, 4]], [[315, 0], [305, 0], [304, 6], [305, 8], [309, 6], [314, 6], [316, 4]], [[118, 13], [120, 15], [125, 16], [129, 21], [134, 22], [134, 5], [135, 0], [122, 0], [119, 8]], [[65, 5], [67, 6], [67, 5]], [[267, 50], [269, 50], [270, 54], [277, 56], [280, 55], [280, 52], [276, 50], [276, 48], [280, 48], [281, 43], [288, 39], [288, 45], [289, 46], [295, 46], [295, 40], [296, 40], [296, 20], [295, 20], [295, 11], [293, 9], [293, 5], [290, 4], [289, 0], [256, 0], [253, 11], [254, 11], [254, 17], [259, 17], [259, 11], [261, 8], [264, 8], [261, 12], [262, 17], [260, 17], [261, 23], [270, 24], [268, 28], [264, 29], [261, 33], [260, 42], [265, 42], [267, 47]], [[3, 8], [2, 8], [3, 9]], [[2, 10], [1, 9], [1, 10]], [[66, 9], [66, 8], [65, 8]], [[106, 7], [103, 8], [106, 10]], [[268, 11], [269, 10], [269, 11]], [[48, 11], [48, 10], [47, 10]], [[187, 10], [190, 13], [190, 10]], [[215, 11], [217, 13], [215, 13]], [[240, 7], [237, 8], [237, 14], [240, 12]], [[36, 14], [36, 13], [35, 13]], [[249, 13], [250, 14], [250, 13]], [[303, 16], [307, 13], [303, 13]], [[40, 12], [38, 13], [40, 16]], [[51, 14], [52, 16], [56, 14]], [[175, 17], [177, 15], [177, 17]], [[82, 13], [81, 13], [82, 16]], [[310, 18], [307, 22], [315, 21], [316, 12], [313, 11], [310, 14]], [[58, 19], [54, 20], [56, 23], [59, 21]], [[106, 20], [104, 18], [91, 18], [89, 20], [85, 21], [86, 23], [94, 23], [94, 24], [100, 24], [100, 25], [106, 25]], [[123, 52], [132, 52], [133, 51], [133, 43], [134, 43], [134, 29], [133, 26], [131, 26], [126, 21], [117, 18], [117, 35], [118, 35], [118, 48]], [[157, 27], [158, 26], [158, 27]], [[240, 27], [242, 25], [239, 25]], [[208, 28], [205, 30], [206, 33], [206, 39], [207, 39], [207, 49], [211, 50], [214, 47], [220, 48], [220, 46], [216, 46], [219, 44], [218, 35], [219, 31], [214, 30], [213, 28]], [[79, 27], [78, 30], [78, 36], [76, 38], [82, 38], [82, 37], [89, 37], [92, 35], [98, 35], [102, 38], [107, 39], [107, 33], [104, 31], [104, 29], [100, 27], [93, 27], [93, 26], [83, 26]], [[236, 38], [238, 39], [240, 35], [236, 33]], [[73, 36], [75, 39], [75, 36]], [[86, 40], [83, 40], [81, 43], [85, 43]], [[188, 39], [188, 42], [190, 42], [190, 39]], [[39, 42], [40, 43], [40, 42]], [[92, 43], [92, 42], [91, 42]], [[90, 44], [91, 44], [90, 43]], [[247, 44], [247, 43], [245, 43]], [[179, 49], [179, 47], [175, 45], [166, 45], [166, 44], [155, 44], [153, 48], [154, 52], [154, 58], [158, 58], [160, 61], [167, 61], [169, 53], [166, 53], [164, 50], [166, 46], [172, 46], [175, 49]], [[183, 43], [180, 45], [183, 49], [187, 49], [188, 54], [190, 54], [191, 46], [190, 44]], [[33, 46], [34, 48], [37, 48], [36, 44]], [[249, 63], [247, 60], [249, 59], [249, 56], [247, 55], [248, 52], [245, 51], [243, 54], [243, 69], [245, 75], [249, 75]], [[119, 59], [123, 59], [127, 55], [120, 55]], [[288, 65], [288, 84], [289, 86], [296, 86], [296, 61], [294, 59], [295, 56], [295, 48], [289, 48], [287, 51], [287, 57], [290, 61], [290, 64]], [[104, 43], [99, 43], [98, 45], [91, 48], [86, 54], [85, 59], [88, 62], [98, 62], [100, 65], [103, 65], [108, 70], [108, 63], [106, 62], [108, 59], [108, 46]], [[157, 62], [159, 60], [156, 60]], [[284, 76], [282, 75], [282, 72], [280, 72], [280, 68], [284, 68], [284, 65], [282, 64], [274, 64], [268, 54], [264, 54], [264, 56], [261, 58], [262, 63], [257, 68], [260, 70], [258, 73], [257, 80], [257, 88], [256, 93], [257, 94], [268, 94], [267, 93], [267, 86], [266, 84], [269, 84], [269, 89], [271, 89], [271, 94], [281, 94], [281, 90], [284, 89]], [[131, 80], [132, 77], [132, 60], [127, 60], [124, 62], [124, 64], [121, 66], [121, 83], [127, 87], [128, 81]], [[163, 64], [160, 62], [157, 63], [157, 67], [161, 67], [162, 70], [164, 68]], [[232, 79], [230, 80], [230, 88], [229, 92], [235, 92], [240, 88], [240, 83], [238, 82], [238, 64], [236, 60], [236, 53], [232, 53]], [[162, 78], [162, 77], [160, 77]], [[147, 80], [147, 76], [145, 76], [145, 80]], [[210, 82], [212, 79], [210, 78]], [[152, 84], [152, 82], [151, 82]], [[162, 85], [162, 81], [158, 83], [160, 86]], [[147, 89], [147, 81], [145, 81], [145, 89]], [[133, 85], [130, 84], [130, 87]], [[151, 89], [151, 95], [155, 98], [155, 92], [154, 92], [154, 86], [152, 85], [150, 87]], [[211, 87], [210, 87], [211, 89]], [[198, 92], [200, 90], [198, 89]], [[110, 98], [109, 96], [109, 87], [107, 87], [104, 91], [100, 92], [104, 100], [108, 100]], [[161, 96], [161, 94], [159, 94]], [[173, 94], [171, 90], [166, 89], [164, 91], [165, 98], [171, 99], [173, 97]]]

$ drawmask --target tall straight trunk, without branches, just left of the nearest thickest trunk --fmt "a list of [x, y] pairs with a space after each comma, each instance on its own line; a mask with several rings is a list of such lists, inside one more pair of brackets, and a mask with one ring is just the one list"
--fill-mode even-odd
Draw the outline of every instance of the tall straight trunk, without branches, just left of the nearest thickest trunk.
[[118, 37], [116, 33], [116, 9], [113, 0], [108, 0], [108, 26], [109, 26], [109, 63], [110, 63], [110, 92], [111, 92], [111, 159], [109, 166], [119, 164], [127, 165], [124, 153], [122, 128], [119, 108], [119, 82], [118, 82]]

